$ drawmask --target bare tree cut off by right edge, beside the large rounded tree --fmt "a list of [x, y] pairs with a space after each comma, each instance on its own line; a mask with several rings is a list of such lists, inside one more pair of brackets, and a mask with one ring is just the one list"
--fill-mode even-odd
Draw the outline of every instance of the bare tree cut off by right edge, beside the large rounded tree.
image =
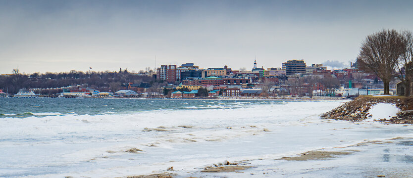
[[413, 34], [411, 31], [404, 31], [402, 35], [405, 40], [405, 51], [396, 62], [396, 77], [405, 86], [405, 96], [411, 95], [413, 82]]

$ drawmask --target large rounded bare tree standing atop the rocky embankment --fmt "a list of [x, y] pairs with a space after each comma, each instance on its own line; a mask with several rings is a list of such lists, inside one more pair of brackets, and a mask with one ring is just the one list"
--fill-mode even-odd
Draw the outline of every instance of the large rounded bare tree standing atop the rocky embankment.
[[363, 41], [358, 58], [361, 69], [381, 78], [384, 94], [389, 94], [389, 83], [399, 57], [404, 53], [403, 36], [396, 30], [381, 30]]

